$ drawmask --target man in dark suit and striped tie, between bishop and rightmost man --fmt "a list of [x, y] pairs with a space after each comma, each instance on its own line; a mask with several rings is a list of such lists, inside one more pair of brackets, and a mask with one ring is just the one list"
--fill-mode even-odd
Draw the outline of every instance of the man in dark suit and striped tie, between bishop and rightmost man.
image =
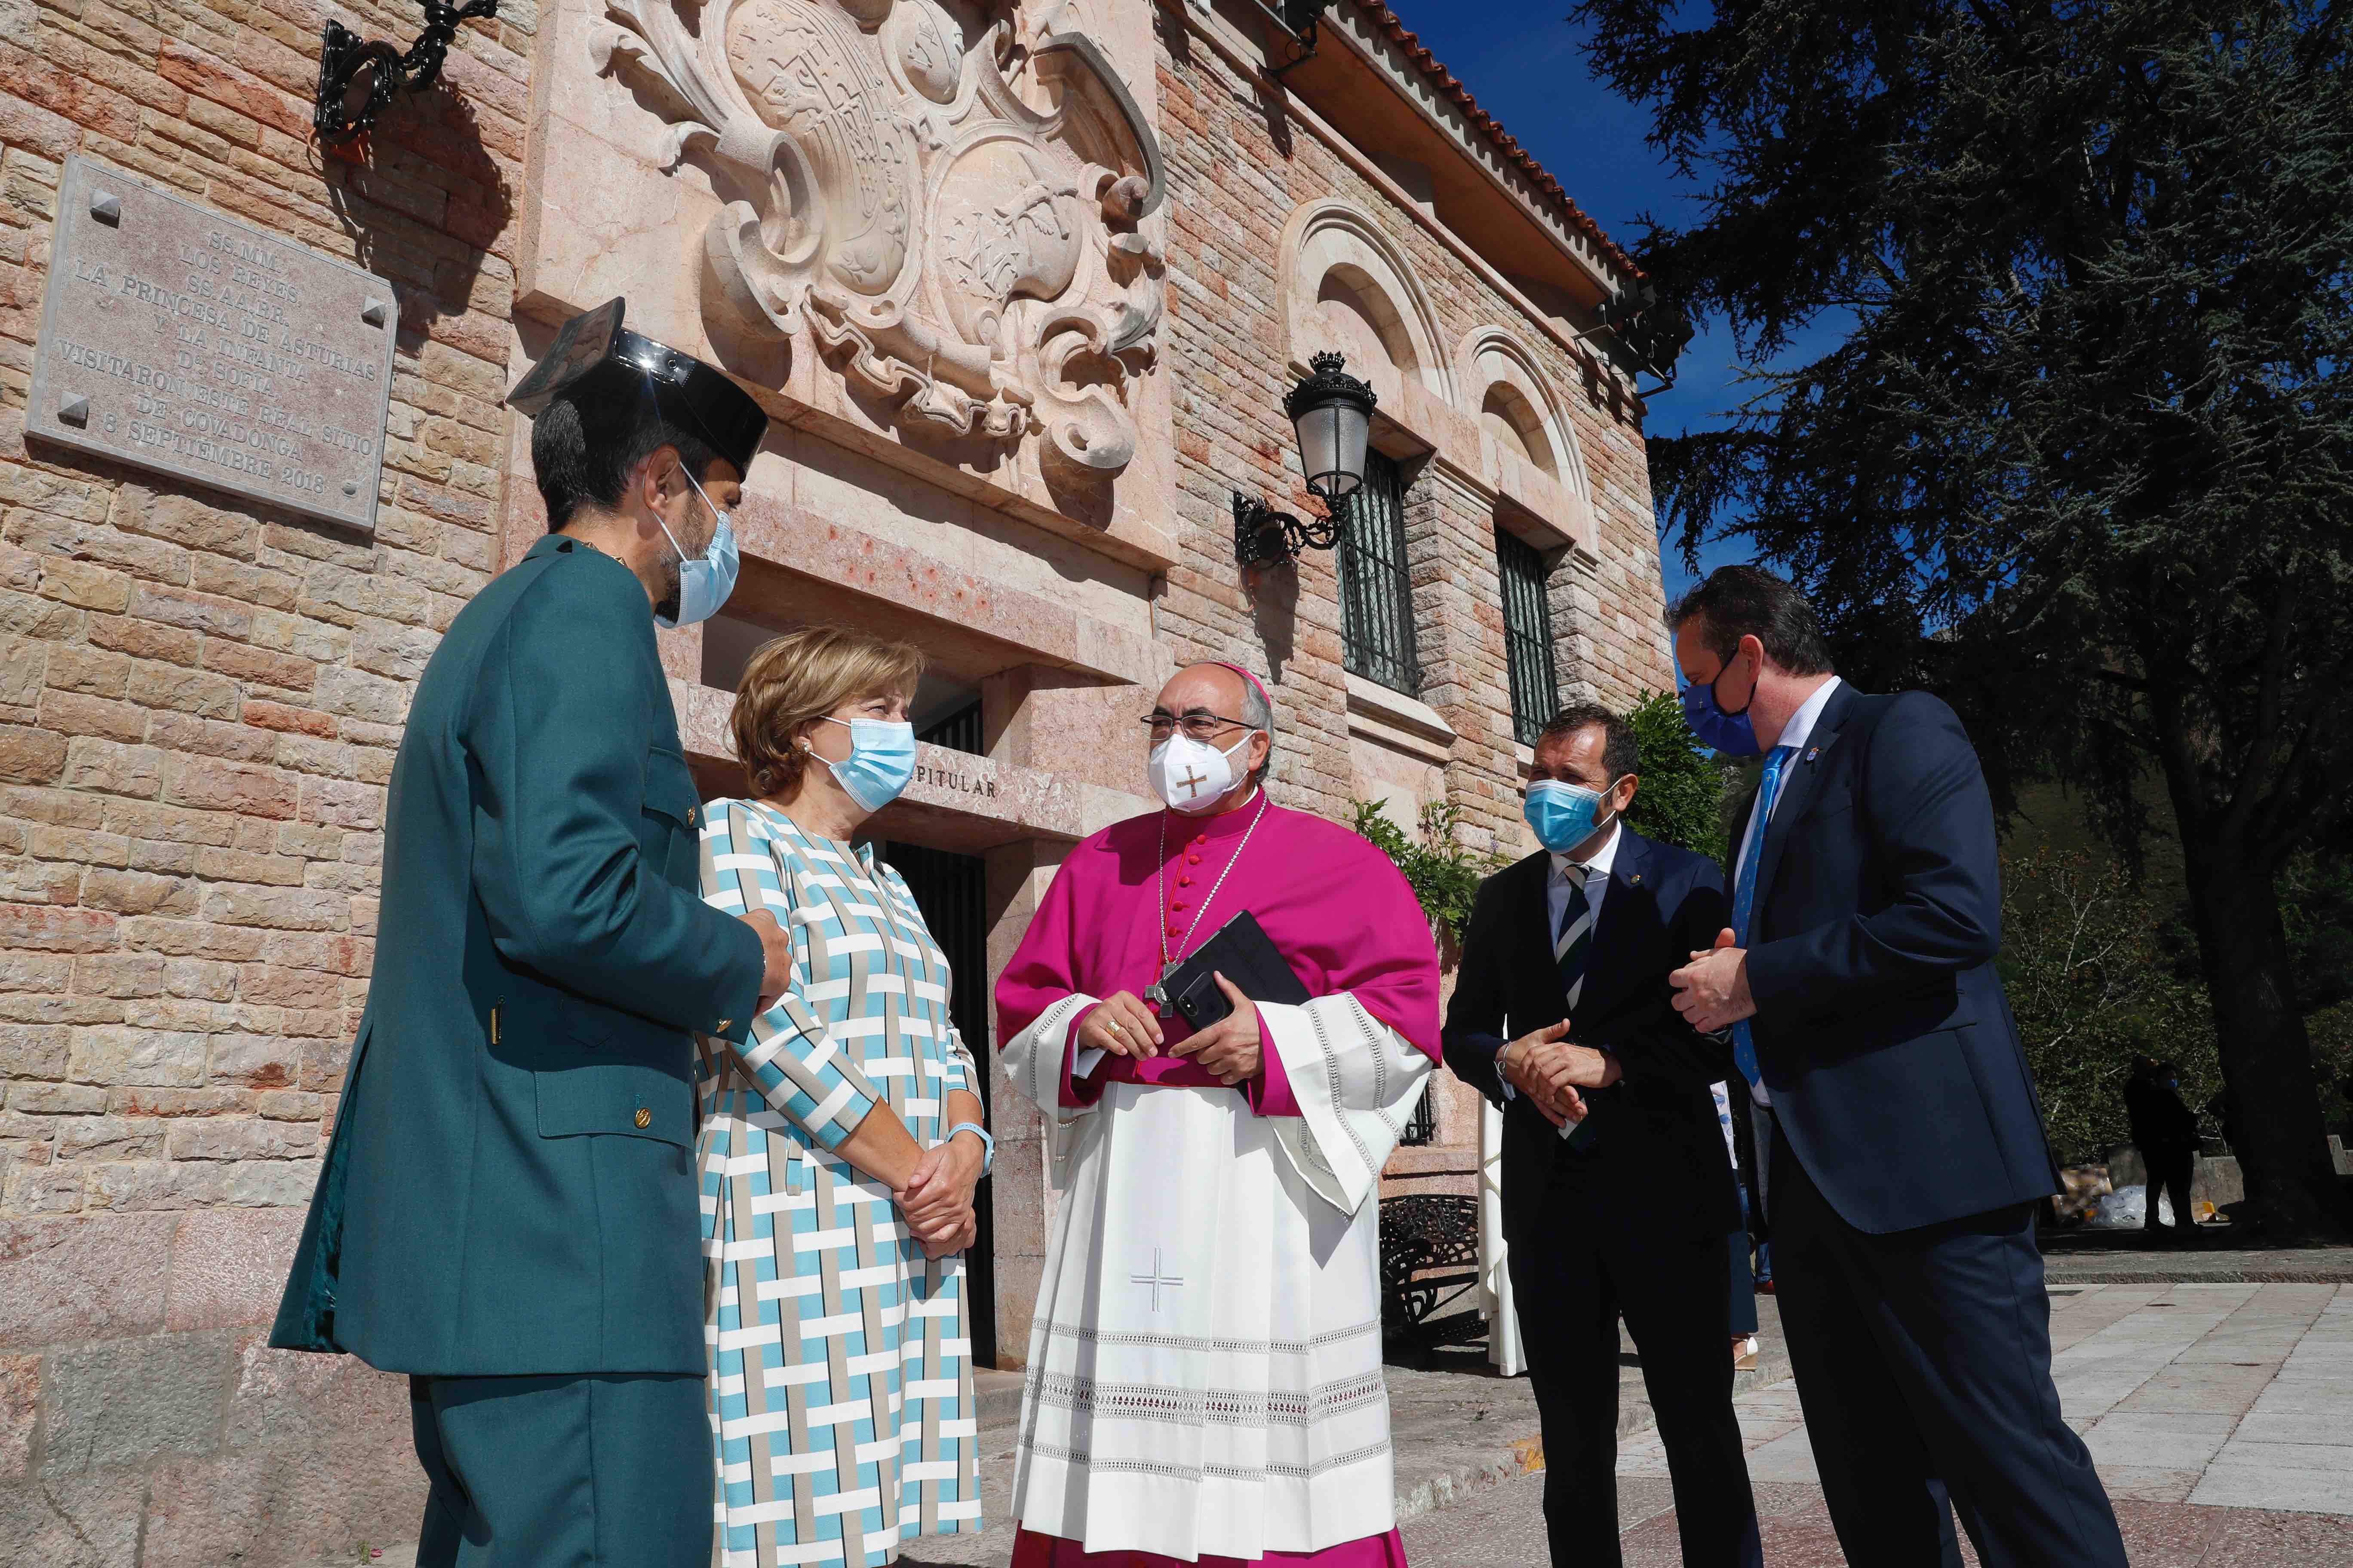
[[1579, 703], [1537, 738], [1539, 849], [1480, 886], [1447, 1004], [1447, 1067], [1504, 1107], [1504, 1239], [1544, 1422], [1553, 1563], [1619, 1563], [1619, 1314], [1659, 1415], [1682, 1561], [1760, 1563], [1732, 1415], [1741, 1225], [1708, 1086], [1732, 1051], [1666, 976], [1725, 922], [1715, 865], [1621, 825], [1635, 736]]

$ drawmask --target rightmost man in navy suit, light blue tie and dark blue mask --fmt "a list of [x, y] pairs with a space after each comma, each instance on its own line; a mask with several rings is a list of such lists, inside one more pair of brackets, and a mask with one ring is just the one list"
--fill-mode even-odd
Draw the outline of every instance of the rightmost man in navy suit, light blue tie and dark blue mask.
[[1988, 1566], [2122, 1568], [2052, 1387], [2035, 1206], [2059, 1187], [1993, 971], [1993, 802], [1941, 701], [1864, 696], [1781, 578], [1668, 614], [1701, 741], [1765, 755], [1732, 922], [1675, 973], [1772, 1124], [1765, 1204], [1814, 1462], [1854, 1563], [1932, 1563], [1934, 1481]]

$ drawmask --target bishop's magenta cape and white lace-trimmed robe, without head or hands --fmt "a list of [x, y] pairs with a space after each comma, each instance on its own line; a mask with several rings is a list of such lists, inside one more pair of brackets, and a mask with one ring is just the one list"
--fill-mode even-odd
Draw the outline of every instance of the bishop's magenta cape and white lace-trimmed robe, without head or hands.
[[[1075, 1048], [1104, 997], [1141, 997], [1242, 910], [1311, 997], [1257, 1006], [1257, 1079]], [[1064, 860], [998, 1011], [1061, 1190], [1014, 1561], [1402, 1568], [1377, 1192], [1440, 1053], [1438, 952], [1405, 877], [1257, 790], [1132, 818]], [[1162, 1025], [1165, 1046], [1191, 1032]]]

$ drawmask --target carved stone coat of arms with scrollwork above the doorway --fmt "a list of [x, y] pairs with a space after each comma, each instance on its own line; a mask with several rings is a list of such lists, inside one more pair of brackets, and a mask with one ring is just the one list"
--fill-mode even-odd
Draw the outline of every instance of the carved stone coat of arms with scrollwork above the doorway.
[[[722, 209], [704, 306], [882, 418], [1111, 477], [1162, 310], [1151, 125], [1066, 0], [607, 0], [600, 71]], [[976, 38], [972, 35], [976, 33]]]

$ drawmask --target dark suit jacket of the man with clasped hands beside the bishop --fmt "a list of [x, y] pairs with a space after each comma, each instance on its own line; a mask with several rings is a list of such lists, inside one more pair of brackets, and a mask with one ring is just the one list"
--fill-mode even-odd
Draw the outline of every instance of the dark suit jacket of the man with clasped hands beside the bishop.
[[1617, 1053], [1626, 1072], [1609, 1088], [1584, 1091], [1588, 1147], [1567, 1147], [1525, 1095], [1506, 1103], [1497, 1074], [1506, 1044], [1567, 1016], [1544, 896], [1551, 875], [1539, 849], [1480, 884], [1447, 1001], [1447, 1067], [1504, 1105], [1506, 1239], [1546, 1218], [1562, 1168], [1574, 1168], [1586, 1192], [1607, 1194], [1612, 1222], [1718, 1237], [1739, 1229], [1739, 1192], [1708, 1093], [1708, 1084], [1737, 1077], [1732, 1044], [1682, 1023], [1666, 983], [1729, 922], [1722, 872], [1706, 856], [1621, 830], [1569, 1030], [1574, 1044]]

